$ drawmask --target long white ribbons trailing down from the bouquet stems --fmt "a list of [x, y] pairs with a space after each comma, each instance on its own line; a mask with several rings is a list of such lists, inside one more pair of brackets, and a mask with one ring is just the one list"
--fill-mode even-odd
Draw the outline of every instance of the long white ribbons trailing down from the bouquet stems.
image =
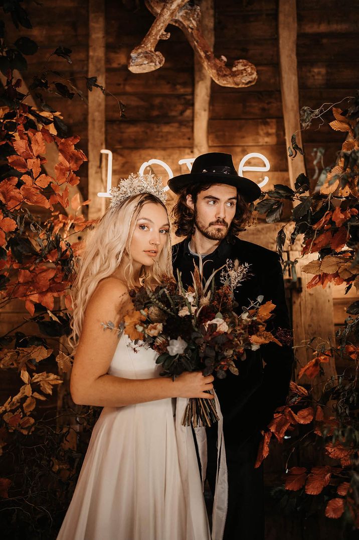
[[[218, 397], [214, 392], [215, 406], [217, 414], [219, 416], [218, 421], [218, 438], [217, 438], [217, 473], [215, 481], [215, 491], [213, 500], [212, 511], [212, 540], [222, 540], [223, 532], [225, 530], [227, 505], [228, 505], [228, 475], [227, 475], [227, 462], [225, 451], [225, 440], [223, 437], [223, 416], [221, 413]], [[192, 437], [192, 430], [189, 427], [182, 426], [182, 419], [185, 413], [188, 400], [182, 397], [177, 398], [176, 404], [176, 431], [178, 435], [179, 444], [179, 458], [182, 471], [182, 480], [184, 481], [185, 490], [188, 494], [188, 503], [191, 506], [192, 512], [197, 507], [195, 503], [195, 497], [199, 494], [194, 487], [194, 483], [191, 482], [191, 469], [194, 473], [193, 464], [188, 462], [189, 451], [195, 456], [195, 447]], [[202, 475], [202, 496], [205, 489], [206, 471], [207, 471], [207, 435], [206, 428], [195, 428], [195, 436], [197, 440], [198, 453], [201, 463], [201, 475]], [[196, 458], [197, 461], [197, 458]], [[195, 515], [195, 514], [194, 514]], [[196, 537], [197, 538], [197, 537]]]

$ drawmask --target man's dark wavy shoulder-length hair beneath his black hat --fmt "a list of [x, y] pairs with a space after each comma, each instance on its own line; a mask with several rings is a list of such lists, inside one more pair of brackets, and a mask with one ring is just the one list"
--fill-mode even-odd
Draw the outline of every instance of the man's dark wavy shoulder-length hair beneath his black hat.
[[[201, 191], [208, 190], [213, 186], [209, 184], [195, 184], [184, 188], [179, 195], [177, 204], [173, 207], [172, 218], [176, 236], [189, 237], [194, 233], [194, 211], [187, 205], [187, 195], [192, 196], [194, 205], [197, 203], [198, 194]], [[228, 229], [227, 240], [233, 241], [233, 238], [245, 231], [250, 225], [254, 225], [256, 219], [253, 214], [253, 203], [247, 203], [237, 191], [237, 204], [234, 218]]]

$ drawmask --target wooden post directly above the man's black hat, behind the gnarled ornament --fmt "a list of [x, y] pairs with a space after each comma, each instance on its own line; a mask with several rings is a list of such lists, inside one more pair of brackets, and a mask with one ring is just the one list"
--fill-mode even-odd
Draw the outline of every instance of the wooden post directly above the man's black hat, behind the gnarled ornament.
[[[214, 45], [213, 0], [201, 2], [201, 28], [209, 46]], [[208, 117], [211, 99], [211, 76], [205, 70], [197, 53], [194, 54], [194, 107], [193, 107], [193, 154], [194, 157], [208, 152]]]

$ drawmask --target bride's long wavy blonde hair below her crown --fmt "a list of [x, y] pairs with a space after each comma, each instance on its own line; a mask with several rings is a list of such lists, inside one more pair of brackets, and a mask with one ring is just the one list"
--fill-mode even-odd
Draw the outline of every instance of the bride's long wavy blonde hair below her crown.
[[[76, 262], [77, 276], [71, 289], [73, 315], [69, 342], [73, 352], [78, 345], [84, 314], [92, 294], [99, 282], [109, 278], [121, 265], [124, 255], [127, 257], [123, 273], [127, 278], [128, 288], [135, 287], [130, 245], [138, 215], [146, 203], [159, 204], [167, 212], [166, 206], [157, 197], [150, 193], [141, 193], [126, 199], [113, 210], [109, 207], [86, 234], [80, 258]], [[173, 275], [171, 247], [171, 233], [168, 233], [158, 259], [152, 266], [141, 269], [140, 279], [144, 285], [161, 284], [164, 274]]]

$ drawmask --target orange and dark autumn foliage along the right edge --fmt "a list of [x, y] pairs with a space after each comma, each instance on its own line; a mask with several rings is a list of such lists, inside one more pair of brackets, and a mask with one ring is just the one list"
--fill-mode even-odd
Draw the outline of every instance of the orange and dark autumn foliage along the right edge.
[[[308, 107], [304, 109], [308, 127]], [[348, 133], [336, 164], [323, 170], [311, 192], [309, 178], [304, 174], [297, 178], [295, 190], [275, 185], [274, 190], [263, 194], [256, 210], [266, 214], [267, 221], [277, 221], [285, 201], [296, 201], [290, 221], [277, 234], [279, 253], [288, 240], [286, 231], [292, 230], [290, 244], [302, 235], [301, 254], [318, 254], [317, 259], [302, 267], [303, 272], [314, 274], [307, 287], [326, 287], [329, 282], [345, 284], [347, 293], [353, 286], [359, 291], [359, 93], [348, 100], [345, 110], [333, 107], [333, 114], [335, 120], [330, 126]], [[303, 153], [299, 147], [296, 149]], [[286, 261], [286, 265], [293, 268], [295, 261]], [[306, 375], [313, 380], [313, 386], [290, 383], [286, 406], [276, 410], [273, 421], [263, 431], [256, 467], [268, 456], [272, 441], [283, 444], [285, 437], [290, 437], [293, 447], [283, 475], [285, 490], [299, 492], [301, 497], [324, 497], [327, 517], [345, 516], [354, 528], [359, 528], [359, 302], [351, 303], [347, 313], [344, 327], [337, 332], [336, 345], [326, 343], [315, 349], [308, 344], [313, 358], [301, 368], [299, 380]], [[344, 360], [348, 367], [331, 377], [320, 398], [315, 399], [316, 377], [324, 374], [323, 364], [329, 360]], [[315, 462], [309, 467], [294, 462], [290, 467], [289, 462], [301, 446], [315, 449]]]

